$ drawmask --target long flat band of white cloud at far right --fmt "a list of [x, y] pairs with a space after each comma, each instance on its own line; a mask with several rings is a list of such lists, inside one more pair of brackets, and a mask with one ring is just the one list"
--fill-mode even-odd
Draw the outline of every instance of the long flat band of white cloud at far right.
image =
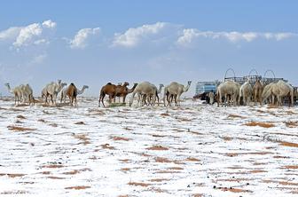
[[277, 41], [297, 36], [294, 33], [258, 33], [258, 32], [213, 32], [213, 31], [200, 31], [195, 28], [186, 28], [183, 30], [182, 35], [180, 35], [177, 39], [177, 43], [180, 45], [188, 45], [196, 40], [199, 37], [218, 39], [225, 38], [232, 43], [237, 43], [239, 41], [252, 42], [257, 38], [265, 38], [265, 39], [275, 39]]

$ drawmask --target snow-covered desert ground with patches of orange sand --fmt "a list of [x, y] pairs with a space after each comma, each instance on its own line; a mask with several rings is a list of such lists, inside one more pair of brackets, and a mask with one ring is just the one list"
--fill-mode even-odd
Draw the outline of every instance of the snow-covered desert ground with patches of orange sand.
[[0, 196], [298, 196], [298, 107], [14, 106]]

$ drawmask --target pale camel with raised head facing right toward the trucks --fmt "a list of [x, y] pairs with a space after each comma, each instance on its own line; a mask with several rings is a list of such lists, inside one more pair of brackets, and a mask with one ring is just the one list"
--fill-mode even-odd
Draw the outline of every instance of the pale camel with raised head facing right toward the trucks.
[[176, 82], [169, 83], [169, 85], [166, 86], [164, 89], [164, 97], [163, 97], [164, 106], [166, 106], [166, 98], [168, 101], [168, 106], [170, 106], [173, 98], [175, 98], [176, 106], [179, 106], [181, 94], [188, 91], [191, 84], [192, 84], [192, 81], [188, 81], [186, 87], [184, 87], [183, 84], [179, 84]]

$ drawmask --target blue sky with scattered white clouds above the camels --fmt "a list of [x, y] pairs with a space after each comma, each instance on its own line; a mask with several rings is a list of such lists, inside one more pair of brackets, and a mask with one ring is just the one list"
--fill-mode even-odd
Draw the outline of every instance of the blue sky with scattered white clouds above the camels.
[[[298, 85], [297, 1], [3, 1], [0, 83], [186, 83], [272, 69]], [[269, 74], [270, 75], [270, 74]], [[0, 92], [7, 94], [4, 86]]]

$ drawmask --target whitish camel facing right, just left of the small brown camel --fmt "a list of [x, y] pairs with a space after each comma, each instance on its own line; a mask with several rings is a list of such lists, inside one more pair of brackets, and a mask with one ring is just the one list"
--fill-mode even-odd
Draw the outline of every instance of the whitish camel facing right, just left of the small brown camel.
[[45, 97], [45, 104], [47, 104], [47, 98], [50, 96], [52, 105], [56, 105], [57, 95], [66, 85], [67, 83], [61, 83], [61, 80], [58, 83], [47, 84], [42, 91], [42, 99]]

